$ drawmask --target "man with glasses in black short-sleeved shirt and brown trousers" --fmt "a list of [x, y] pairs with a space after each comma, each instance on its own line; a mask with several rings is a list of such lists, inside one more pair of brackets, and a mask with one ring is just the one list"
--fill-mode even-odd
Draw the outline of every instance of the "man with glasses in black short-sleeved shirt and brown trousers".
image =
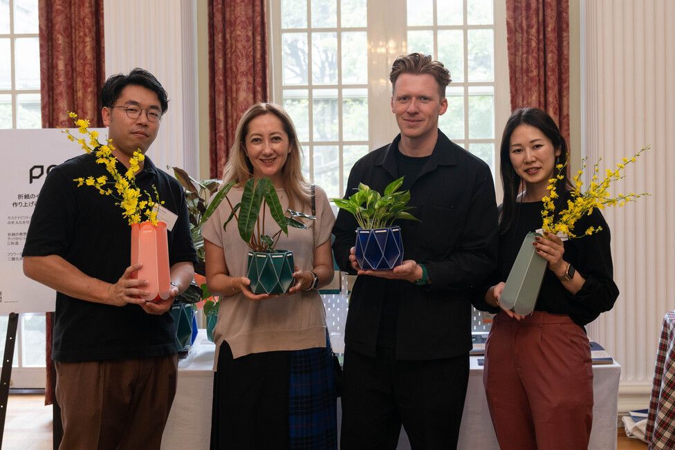
[[[167, 93], [140, 68], [113, 75], [101, 92], [118, 171], [145, 154], [167, 111]], [[113, 196], [77, 188], [76, 178], [108, 175], [89, 153], [48, 174], [24, 247], [24, 273], [57, 291], [52, 357], [64, 426], [62, 449], [159, 449], [176, 392], [174, 297], [192, 281], [196, 253], [181, 185], [140, 162], [136, 185], [157, 190], [168, 216], [172, 296], [146, 302], [146, 280], [131, 265], [131, 227]], [[169, 227], [167, 226], [167, 229]]]

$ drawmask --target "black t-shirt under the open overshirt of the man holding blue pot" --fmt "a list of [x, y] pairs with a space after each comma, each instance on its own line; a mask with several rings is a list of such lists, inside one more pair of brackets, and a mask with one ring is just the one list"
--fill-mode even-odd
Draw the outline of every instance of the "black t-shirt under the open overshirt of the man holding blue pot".
[[[427, 160], [429, 160], [429, 156], [415, 158], [413, 156], [406, 156], [400, 151], [396, 152], [398, 176], [405, 177], [403, 178], [403, 185], [398, 190], [405, 191], [410, 189], [412, 182], [416, 180]], [[414, 212], [413, 215], [415, 215]], [[403, 249], [403, 259], [405, 259], [405, 248]], [[385, 288], [387, 294], [385, 295], [385, 301], [382, 303], [382, 315], [380, 316], [380, 328], [378, 329], [378, 346], [380, 347], [396, 348], [398, 299], [400, 298], [399, 283], [408, 283], [408, 281], [389, 283]]]

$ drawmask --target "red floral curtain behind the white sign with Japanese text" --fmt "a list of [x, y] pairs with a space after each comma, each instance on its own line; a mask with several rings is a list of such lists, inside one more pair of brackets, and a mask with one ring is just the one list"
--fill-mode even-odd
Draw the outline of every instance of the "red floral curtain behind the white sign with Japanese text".
[[[89, 118], [93, 127], [102, 126], [103, 0], [39, 0], [38, 10], [42, 127], [71, 125], [67, 111]], [[46, 316], [45, 404], [51, 404], [53, 317], [50, 312]]]

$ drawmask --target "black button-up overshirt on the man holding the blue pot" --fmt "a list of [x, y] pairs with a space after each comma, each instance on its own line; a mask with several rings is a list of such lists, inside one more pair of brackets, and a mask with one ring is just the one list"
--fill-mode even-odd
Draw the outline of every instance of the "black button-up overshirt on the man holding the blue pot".
[[[349, 174], [346, 193], [359, 182], [380, 193], [399, 177], [400, 135], [391, 144], [361, 158]], [[396, 357], [422, 360], [468, 353], [471, 343], [472, 287], [483, 283], [497, 264], [497, 205], [492, 174], [485, 162], [438, 131], [434, 151], [414, 179], [406, 180], [420, 222], [400, 221], [403, 259], [427, 267], [431, 284], [359, 276], [353, 287], [345, 343], [374, 356], [382, 308], [389, 292], [398, 301]], [[335, 260], [353, 272], [349, 249], [357, 224], [340, 210], [333, 234]]]

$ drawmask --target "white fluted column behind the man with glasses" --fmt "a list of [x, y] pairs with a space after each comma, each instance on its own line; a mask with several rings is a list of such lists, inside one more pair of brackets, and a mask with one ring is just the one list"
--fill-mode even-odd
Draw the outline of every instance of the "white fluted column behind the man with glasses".
[[198, 176], [195, 0], [105, 0], [106, 76], [145, 68], [169, 94], [148, 156]]

